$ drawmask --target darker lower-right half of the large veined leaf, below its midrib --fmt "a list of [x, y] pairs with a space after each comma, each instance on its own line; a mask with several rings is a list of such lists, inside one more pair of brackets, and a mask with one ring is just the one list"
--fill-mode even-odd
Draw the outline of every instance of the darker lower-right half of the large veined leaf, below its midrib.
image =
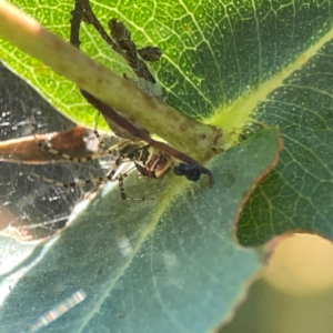
[[284, 150], [245, 205], [242, 244], [259, 245], [291, 230], [333, 236], [332, 54], [330, 41], [255, 110], [256, 121], [283, 129]]

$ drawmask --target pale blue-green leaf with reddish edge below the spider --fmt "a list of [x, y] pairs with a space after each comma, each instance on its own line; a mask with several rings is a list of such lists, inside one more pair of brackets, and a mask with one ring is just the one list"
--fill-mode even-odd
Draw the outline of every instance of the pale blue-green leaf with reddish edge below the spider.
[[[1, 260], [12, 265], [2, 268], [1, 287], [11, 284], [12, 292], [1, 329], [32, 330], [39, 316], [78, 290], [87, 299], [44, 332], [218, 326], [262, 265], [256, 251], [242, 249], [232, 234], [239, 206], [275, 163], [279, 147], [279, 131], [271, 128], [214, 158], [208, 165], [215, 176], [212, 188], [206, 179], [190, 183], [170, 174], [152, 181], [132, 174], [128, 194], [159, 200], [128, 202], [120, 200], [118, 186], [104, 190], [44, 246], [2, 238]], [[259, 163], [243, 163], [251, 158]], [[13, 311], [18, 303], [20, 310]]]

